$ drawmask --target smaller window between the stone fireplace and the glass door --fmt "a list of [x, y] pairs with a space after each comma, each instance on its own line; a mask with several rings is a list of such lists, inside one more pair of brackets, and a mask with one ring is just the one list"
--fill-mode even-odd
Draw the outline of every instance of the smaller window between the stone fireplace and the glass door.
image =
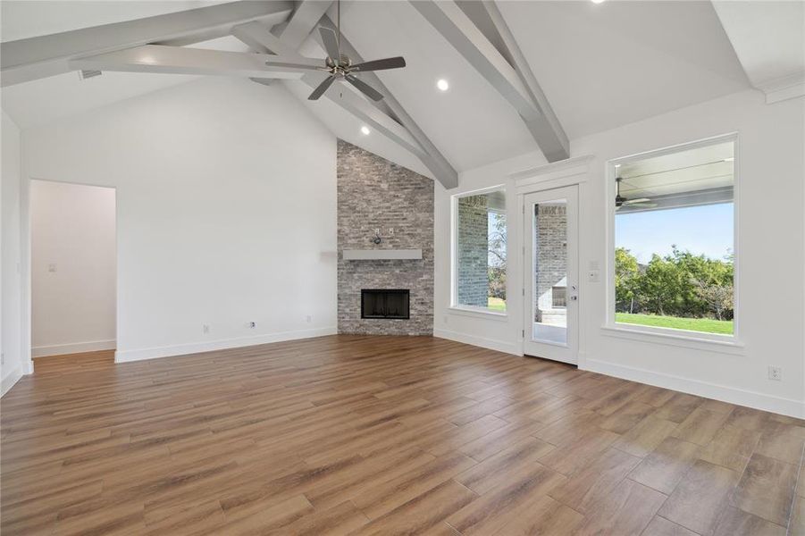
[[453, 305], [506, 312], [506, 197], [454, 197]]

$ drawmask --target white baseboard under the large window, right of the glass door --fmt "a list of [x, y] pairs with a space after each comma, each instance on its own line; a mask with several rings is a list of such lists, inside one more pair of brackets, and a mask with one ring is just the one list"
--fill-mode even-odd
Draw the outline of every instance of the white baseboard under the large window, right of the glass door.
[[[581, 360], [580, 360], [581, 362]], [[757, 391], [737, 389], [708, 381], [691, 380], [672, 374], [655, 373], [622, 364], [613, 364], [598, 359], [586, 358], [583, 361], [584, 369], [593, 373], [607, 374], [624, 380], [638, 381], [665, 389], [674, 389], [683, 393], [697, 395], [704, 398], [714, 398], [722, 402], [748, 406], [763, 411], [788, 415], [798, 419], [805, 418], [805, 404], [801, 400], [775, 397]], [[581, 363], [580, 366], [581, 367]]]

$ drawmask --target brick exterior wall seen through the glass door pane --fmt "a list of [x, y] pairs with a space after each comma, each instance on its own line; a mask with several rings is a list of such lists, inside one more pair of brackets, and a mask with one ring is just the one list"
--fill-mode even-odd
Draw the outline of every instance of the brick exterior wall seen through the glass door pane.
[[565, 205], [535, 207], [537, 259], [535, 275], [537, 306], [534, 320], [542, 322], [543, 311], [553, 309], [553, 287], [567, 275], [567, 209]]

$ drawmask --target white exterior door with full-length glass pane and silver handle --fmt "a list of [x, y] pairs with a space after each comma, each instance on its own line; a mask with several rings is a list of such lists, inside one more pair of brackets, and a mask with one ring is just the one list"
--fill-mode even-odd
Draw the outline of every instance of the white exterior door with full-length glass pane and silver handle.
[[524, 196], [524, 353], [578, 364], [578, 185]]

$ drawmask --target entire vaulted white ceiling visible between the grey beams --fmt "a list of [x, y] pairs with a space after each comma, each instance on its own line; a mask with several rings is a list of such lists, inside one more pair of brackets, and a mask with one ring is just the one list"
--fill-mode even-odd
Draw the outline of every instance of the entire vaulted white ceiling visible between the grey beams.
[[[4, 0], [0, 37], [10, 41], [210, 4], [219, 2]], [[709, 1], [497, 4], [569, 138], [750, 88]], [[335, 19], [332, 9], [330, 15]], [[365, 60], [406, 57], [406, 69], [378, 75], [458, 171], [538, 148], [512, 105], [408, 2], [345, 1], [341, 24]], [[234, 38], [194, 46], [247, 50]], [[313, 39], [300, 50], [324, 55]], [[105, 72], [80, 80], [73, 72], [4, 88], [3, 107], [26, 128], [195, 78]], [[436, 88], [439, 79], [449, 81], [447, 92]], [[299, 82], [278, 83], [301, 98], [309, 93]], [[362, 138], [361, 121], [338, 106], [323, 100], [308, 107], [340, 138], [430, 174], [389, 139]]]

